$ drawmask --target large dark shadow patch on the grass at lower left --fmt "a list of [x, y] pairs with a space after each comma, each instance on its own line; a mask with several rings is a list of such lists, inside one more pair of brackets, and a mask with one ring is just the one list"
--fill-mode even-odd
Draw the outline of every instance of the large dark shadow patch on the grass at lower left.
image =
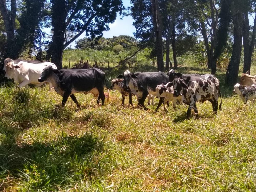
[[[45, 143], [3, 141], [0, 142], [0, 180], [7, 176], [18, 178], [19, 187], [27, 190], [52, 191], [58, 190], [58, 185], [70, 188], [85, 177], [90, 180], [104, 173], [103, 163], [95, 157], [104, 153], [103, 148], [104, 143], [91, 133], [81, 137], [62, 134]], [[0, 190], [8, 185], [12, 187], [5, 184]]]

